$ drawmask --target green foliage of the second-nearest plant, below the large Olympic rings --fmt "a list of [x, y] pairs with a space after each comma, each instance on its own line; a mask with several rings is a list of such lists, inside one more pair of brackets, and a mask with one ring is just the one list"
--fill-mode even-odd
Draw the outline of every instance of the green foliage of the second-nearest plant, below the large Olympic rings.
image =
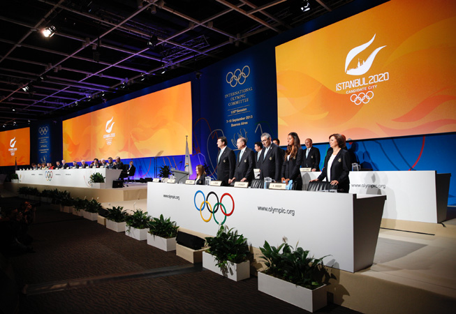
[[221, 225], [215, 237], [206, 238], [209, 246], [207, 253], [214, 255], [217, 260], [216, 266], [221, 270], [226, 269], [228, 261], [241, 263], [251, 255], [247, 239], [233, 229], [228, 230], [228, 227]]

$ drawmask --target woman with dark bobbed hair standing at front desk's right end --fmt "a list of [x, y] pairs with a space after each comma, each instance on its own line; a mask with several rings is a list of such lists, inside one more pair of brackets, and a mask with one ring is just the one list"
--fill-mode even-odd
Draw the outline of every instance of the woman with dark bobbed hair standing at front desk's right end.
[[330, 135], [330, 148], [332, 148], [332, 151], [328, 149], [325, 165], [323, 170], [321, 170], [320, 176], [311, 181], [323, 181], [326, 178], [332, 185], [338, 185], [339, 192], [348, 193], [348, 190], [350, 190], [348, 173], [350, 172], [351, 160], [350, 154], [348, 154], [346, 149], [343, 149], [344, 147], [346, 147], [346, 144], [342, 135]]

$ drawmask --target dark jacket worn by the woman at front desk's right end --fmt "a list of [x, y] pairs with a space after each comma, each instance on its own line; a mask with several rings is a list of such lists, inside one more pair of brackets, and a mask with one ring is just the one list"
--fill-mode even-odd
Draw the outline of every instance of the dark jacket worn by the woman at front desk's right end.
[[[321, 170], [320, 176], [318, 176], [318, 180], [322, 181], [323, 179], [328, 180], [328, 161], [330, 160], [332, 155], [332, 149], [328, 154], [326, 154], [325, 157], [325, 165], [323, 169]], [[348, 190], [350, 190], [350, 179], [348, 178], [348, 174], [350, 173], [351, 169], [351, 160], [350, 160], [350, 154], [348, 154], [348, 151], [346, 149], [341, 149], [339, 153], [337, 153], [336, 157], [334, 158], [334, 161], [332, 162], [332, 166], [330, 169], [331, 173], [331, 181], [332, 180], [337, 180], [339, 181], [339, 190], [344, 193], [348, 193]]]

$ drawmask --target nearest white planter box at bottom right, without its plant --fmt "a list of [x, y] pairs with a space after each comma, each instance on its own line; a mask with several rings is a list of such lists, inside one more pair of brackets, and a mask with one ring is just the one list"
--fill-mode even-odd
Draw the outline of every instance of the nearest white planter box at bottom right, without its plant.
[[309, 290], [258, 272], [258, 290], [312, 313], [324, 308], [327, 304], [326, 285]]

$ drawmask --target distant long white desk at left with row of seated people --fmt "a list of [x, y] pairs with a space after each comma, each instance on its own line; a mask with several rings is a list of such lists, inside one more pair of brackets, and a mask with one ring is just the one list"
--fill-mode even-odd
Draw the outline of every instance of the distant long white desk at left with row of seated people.
[[73, 186], [75, 188], [91, 188], [90, 175], [100, 172], [105, 177], [105, 187], [112, 188], [112, 181], [119, 179], [118, 169], [84, 168], [57, 170], [17, 170], [19, 183], [42, 184], [46, 186]]

